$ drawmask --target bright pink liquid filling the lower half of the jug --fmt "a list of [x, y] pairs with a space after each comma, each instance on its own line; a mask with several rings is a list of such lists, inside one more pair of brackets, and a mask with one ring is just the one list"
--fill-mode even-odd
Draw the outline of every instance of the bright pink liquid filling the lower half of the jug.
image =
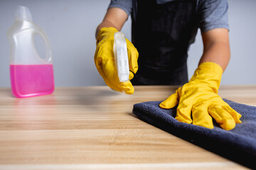
[[18, 98], [54, 91], [53, 64], [11, 64], [10, 74], [11, 90]]

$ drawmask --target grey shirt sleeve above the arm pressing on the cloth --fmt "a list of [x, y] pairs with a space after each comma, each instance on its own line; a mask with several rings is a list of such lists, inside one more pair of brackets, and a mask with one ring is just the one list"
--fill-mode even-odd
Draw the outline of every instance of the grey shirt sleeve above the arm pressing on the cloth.
[[229, 30], [227, 0], [199, 1], [198, 11], [201, 33], [215, 28], [227, 28]]

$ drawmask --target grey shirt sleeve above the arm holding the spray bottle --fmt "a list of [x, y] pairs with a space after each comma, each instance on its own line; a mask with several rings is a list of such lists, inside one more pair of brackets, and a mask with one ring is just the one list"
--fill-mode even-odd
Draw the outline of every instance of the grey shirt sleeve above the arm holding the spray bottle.
[[122, 8], [129, 16], [132, 12], [132, 0], [111, 0], [108, 8], [112, 7]]

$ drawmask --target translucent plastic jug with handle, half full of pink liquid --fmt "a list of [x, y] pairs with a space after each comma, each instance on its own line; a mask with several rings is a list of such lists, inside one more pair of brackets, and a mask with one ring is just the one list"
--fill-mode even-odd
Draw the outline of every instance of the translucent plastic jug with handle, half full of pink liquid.
[[[54, 91], [53, 61], [50, 42], [44, 31], [32, 22], [29, 9], [17, 6], [16, 21], [9, 28], [11, 90], [18, 98], [51, 94]], [[46, 44], [46, 56], [40, 57], [35, 46], [39, 35]]]

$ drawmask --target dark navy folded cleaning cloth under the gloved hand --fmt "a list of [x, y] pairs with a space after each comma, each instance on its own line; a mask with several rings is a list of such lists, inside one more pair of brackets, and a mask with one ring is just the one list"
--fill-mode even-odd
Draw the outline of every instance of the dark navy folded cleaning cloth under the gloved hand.
[[208, 149], [234, 162], [256, 169], [256, 107], [223, 99], [242, 115], [242, 123], [233, 130], [223, 130], [214, 122], [214, 128], [178, 122], [176, 108], [162, 109], [161, 101], [134, 104], [133, 113], [146, 123], [156, 126], [195, 145]]

